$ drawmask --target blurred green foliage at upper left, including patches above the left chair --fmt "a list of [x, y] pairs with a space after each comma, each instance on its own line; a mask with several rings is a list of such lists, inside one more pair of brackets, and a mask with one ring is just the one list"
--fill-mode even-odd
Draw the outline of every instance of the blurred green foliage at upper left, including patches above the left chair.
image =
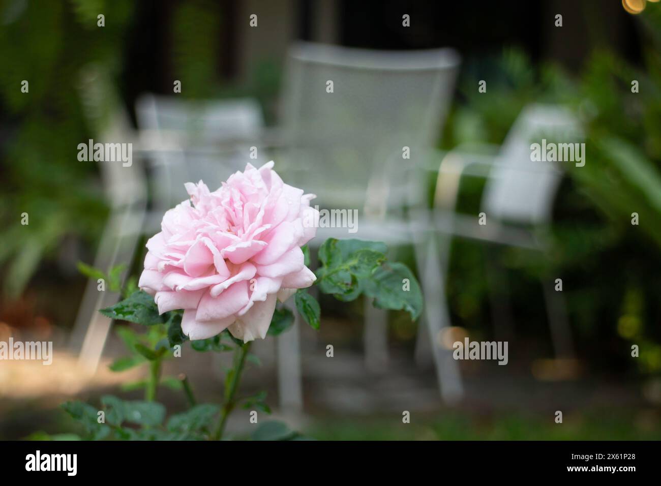
[[[98, 167], [77, 161], [77, 145], [98, 136], [110, 114], [132, 102], [117, 87], [143, 89], [120, 79], [140, 8], [130, 0], [0, 3], [0, 99], [10, 127], [0, 153], [0, 288], [7, 298], [22, 293], [40, 262], [55, 257], [65, 239], [92, 248], [98, 241], [108, 209]], [[254, 96], [272, 118], [276, 63], [256, 63], [241, 87], [221, 85], [217, 65], [223, 53], [212, 40], [228, 20], [217, 3], [180, 2], [172, 14], [171, 67], [182, 81], [181, 95]], [[28, 225], [21, 224], [24, 213]]]

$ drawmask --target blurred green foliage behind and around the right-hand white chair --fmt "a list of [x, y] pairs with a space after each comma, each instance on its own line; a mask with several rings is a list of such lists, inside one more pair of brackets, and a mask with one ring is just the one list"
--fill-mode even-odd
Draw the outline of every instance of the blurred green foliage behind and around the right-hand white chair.
[[[517, 272], [509, 278], [517, 320], [538, 320], [539, 276], [562, 276], [576, 336], [582, 343], [607, 346], [611, 339], [644, 343], [646, 358], [632, 361], [627, 346], [619, 360], [630, 369], [661, 371], [661, 305], [659, 250], [661, 249], [661, 9], [637, 16], [641, 27], [639, 65], [607, 48], [597, 48], [578, 77], [551, 63], [537, 66], [520, 50], [508, 48], [496, 59], [467, 64], [457, 83], [460, 101], [451, 110], [444, 131], [444, 148], [461, 143], [500, 144], [519, 112], [532, 102], [566, 104], [573, 108], [585, 131], [587, 162], [566, 167], [568, 179], [557, 196], [550, 259], [520, 249], [488, 249], [453, 243], [447, 278], [451, 310], [473, 331], [490, 321], [485, 265]], [[595, 44], [598, 45], [598, 44]], [[479, 93], [480, 79], [489, 79], [488, 95]], [[637, 92], [632, 90], [637, 81]], [[461, 186], [461, 206], [477, 209], [483, 183]], [[632, 224], [634, 214], [639, 224]], [[642, 305], [623, 314], [625, 298], [641, 296]], [[520, 304], [520, 303], [525, 304]], [[539, 302], [541, 304], [541, 302]], [[639, 323], [633, 335], [618, 333], [621, 317]], [[627, 320], [629, 319], [629, 320]], [[541, 329], [541, 328], [539, 328]], [[518, 333], [535, 333], [518, 328]], [[612, 355], [611, 355], [612, 356]], [[622, 369], [598, 362], [602, 370]], [[600, 366], [605, 364], [606, 366]]]

